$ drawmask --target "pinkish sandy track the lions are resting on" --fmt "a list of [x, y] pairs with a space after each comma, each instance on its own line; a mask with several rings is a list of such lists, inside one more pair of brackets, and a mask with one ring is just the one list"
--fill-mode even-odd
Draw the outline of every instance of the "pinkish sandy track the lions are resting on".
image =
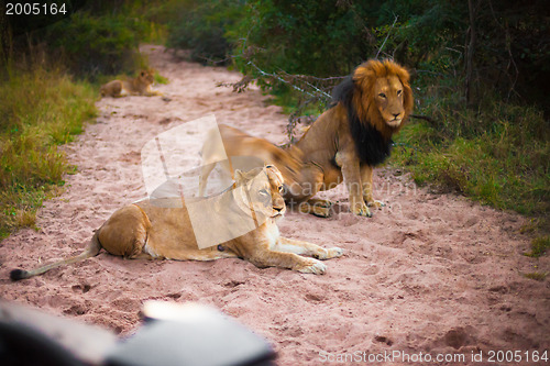
[[[332, 218], [289, 212], [279, 223], [285, 236], [345, 249], [343, 257], [326, 262], [324, 276], [258, 269], [240, 259], [124, 260], [103, 252], [11, 282], [12, 268], [78, 253], [117, 208], [146, 195], [140, 152], [158, 133], [215, 113], [218, 122], [286, 142], [286, 117], [266, 106], [258, 90], [217, 87], [239, 80], [238, 73], [178, 62], [162, 47], [143, 51], [169, 79], [158, 90], [170, 101], [98, 101], [97, 123], [64, 147], [78, 173], [66, 177], [62, 196], [44, 203], [40, 230], [21, 230], [0, 244], [1, 298], [122, 336], [138, 329], [144, 300], [199, 301], [267, 339], [278, 365], [337, 363], [352, 353], [375, 364], [372, 357], [397, 351], [413, 357], [463, 354], [465, 362], [457, 364], [473, 365], [472, 353], [484, 352], [487, 362], [488, 352], [498, 350], [521, 351], [518, 364], [526, 364], [526, 352], [550, 348], [549, 279], [524, 277], [550, 271], [550, 260], [521, 255], [529, 248], [529, 237], [519, 233], [526, 220], [431, 193], [392, 169], [377, 170], [376, 199], [387, 207], [372, 219], [348, 213], [341, 187], [324, 195], [338, 201]], [[395, 358], [393, 364], [422, 363]]]

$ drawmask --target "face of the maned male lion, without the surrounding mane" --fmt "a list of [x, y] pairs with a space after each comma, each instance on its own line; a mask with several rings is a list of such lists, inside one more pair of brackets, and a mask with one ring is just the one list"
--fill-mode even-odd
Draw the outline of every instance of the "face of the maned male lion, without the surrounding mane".
[[403, 84], [397, 76], [377, 78], [374, 84], [374, 101], [382, 119], [391, 127], [398, 127], [405, 117]]

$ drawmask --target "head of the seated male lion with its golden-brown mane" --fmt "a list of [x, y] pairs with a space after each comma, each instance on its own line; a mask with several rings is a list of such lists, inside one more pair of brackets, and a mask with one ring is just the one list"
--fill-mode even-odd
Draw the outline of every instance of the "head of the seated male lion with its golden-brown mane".
[[353, 73], [353, 106], [362, 121], [370, 121], [383, 135], [399, 130], [413, 111], [409, 74], [391, 60], [371, 59]]

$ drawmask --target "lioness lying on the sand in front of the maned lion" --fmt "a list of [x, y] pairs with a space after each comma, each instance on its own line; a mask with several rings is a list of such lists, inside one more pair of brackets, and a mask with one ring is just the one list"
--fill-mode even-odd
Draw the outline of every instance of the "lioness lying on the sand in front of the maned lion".
[[[10, 277], [19, 280], [41, 275], [61, 265], [96, 256], [101, 248], [128, 258], [213, 260], [240, 257], [257, 267], [283, 267], [321, 275], [327, 267], [316, 258], [339, 257], [343, 251], [339, 247], [324, 249], [279, 235], [276, 220], [286, 210], [282, 187], [283, 177], [274, 166], [248, 173], [235, 170], [234, 189], [211, 201], [212, 214], [221, 212], [226, 215], [226, 228], [216, 230], [231, 230], [231, 226], [250, 220], [251, 208], [254, 220], [262, 217], [265, 221], [260, 222], [257, 229], [218, 246], [198, 248], [188, 209], [182, 198], [163, 198], [156, 201], [146, 199], [116, 211], [96, 231], [81, 254], [34, 270], [13, 269]], [[305, 258], [298, 254], [315, 258]]]

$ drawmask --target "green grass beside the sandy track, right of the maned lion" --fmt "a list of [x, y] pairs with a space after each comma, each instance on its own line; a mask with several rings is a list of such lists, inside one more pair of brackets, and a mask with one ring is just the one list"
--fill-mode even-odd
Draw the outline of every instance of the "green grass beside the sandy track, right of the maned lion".
[[404, 127], [392, 164], [407, 167], [417, 184], [547, 217], [550, 140], [542, 113], [504, 103], [475, 113], [439, 108], [427, 111], [438, 122], [413, 121]]

